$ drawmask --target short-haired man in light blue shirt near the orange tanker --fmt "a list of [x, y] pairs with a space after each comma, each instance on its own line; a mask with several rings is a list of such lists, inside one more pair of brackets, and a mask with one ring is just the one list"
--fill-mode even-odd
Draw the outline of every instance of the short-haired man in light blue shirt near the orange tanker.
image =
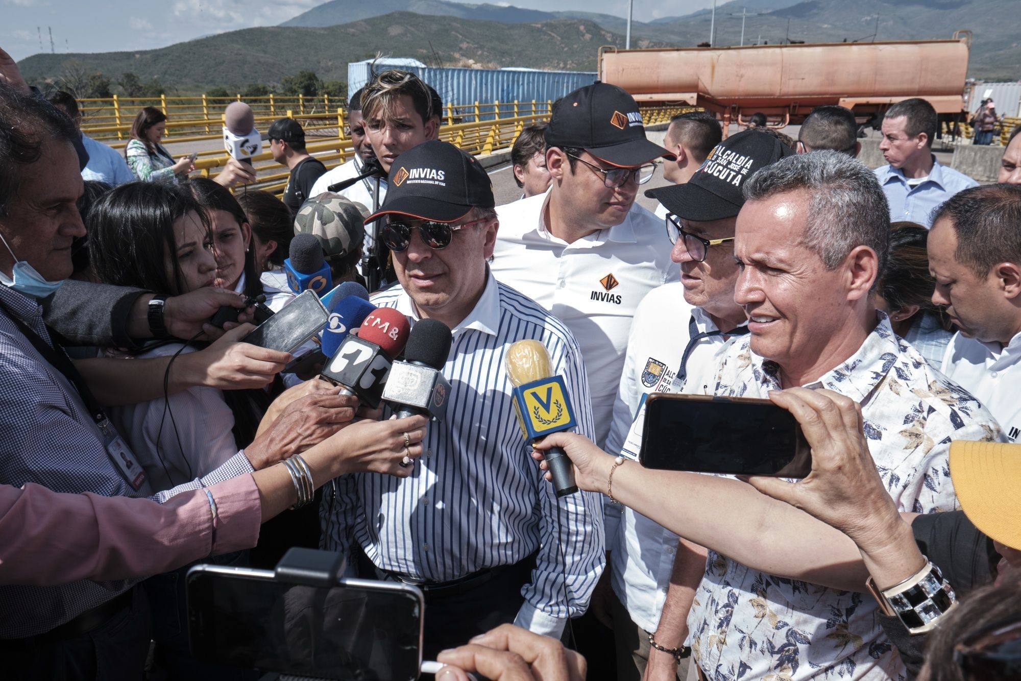
[[906, 99], [886, 110], [879, 150], [889, 163], [875, 173], [890, 204], [890, 221], [931, 227], [929, 213], [958, 192], [978, 183], [941, 165], [932, 154], [936, 110], [924, 99]]

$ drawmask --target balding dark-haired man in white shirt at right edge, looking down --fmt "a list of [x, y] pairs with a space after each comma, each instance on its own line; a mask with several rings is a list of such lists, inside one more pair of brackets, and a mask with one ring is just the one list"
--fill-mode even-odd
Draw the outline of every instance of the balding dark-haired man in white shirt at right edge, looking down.
[[961, 329], [942, 372], [1021, 442], [1021, 186], [955, 194], [933, 215], [928, 250], [932, 302]]

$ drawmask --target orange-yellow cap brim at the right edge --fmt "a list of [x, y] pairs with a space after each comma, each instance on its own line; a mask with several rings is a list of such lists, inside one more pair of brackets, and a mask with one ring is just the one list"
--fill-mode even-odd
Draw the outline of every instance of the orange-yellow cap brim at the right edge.
[[951, 479], [968, 520], [1021, 550], [1021, 444], [952, 442]]

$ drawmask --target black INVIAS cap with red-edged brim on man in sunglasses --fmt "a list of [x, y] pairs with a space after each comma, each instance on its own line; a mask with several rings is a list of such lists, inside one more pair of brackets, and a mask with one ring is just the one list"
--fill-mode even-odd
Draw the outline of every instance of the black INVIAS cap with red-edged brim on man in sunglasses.
[[430, 140], [393, 161], [382, 207], [367, 223], [389, 213], [452, 223], [474, 208], [493, 208], [493, 185], [475, 156], [449, 142]]

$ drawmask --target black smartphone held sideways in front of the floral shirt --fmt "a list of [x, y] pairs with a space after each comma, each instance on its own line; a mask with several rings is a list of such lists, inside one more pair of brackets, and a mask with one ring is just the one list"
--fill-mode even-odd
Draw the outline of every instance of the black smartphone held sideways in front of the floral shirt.
[[768, 399], [652, 393], [638, 460], [647, 469], [804, 478], [812, 448]]

